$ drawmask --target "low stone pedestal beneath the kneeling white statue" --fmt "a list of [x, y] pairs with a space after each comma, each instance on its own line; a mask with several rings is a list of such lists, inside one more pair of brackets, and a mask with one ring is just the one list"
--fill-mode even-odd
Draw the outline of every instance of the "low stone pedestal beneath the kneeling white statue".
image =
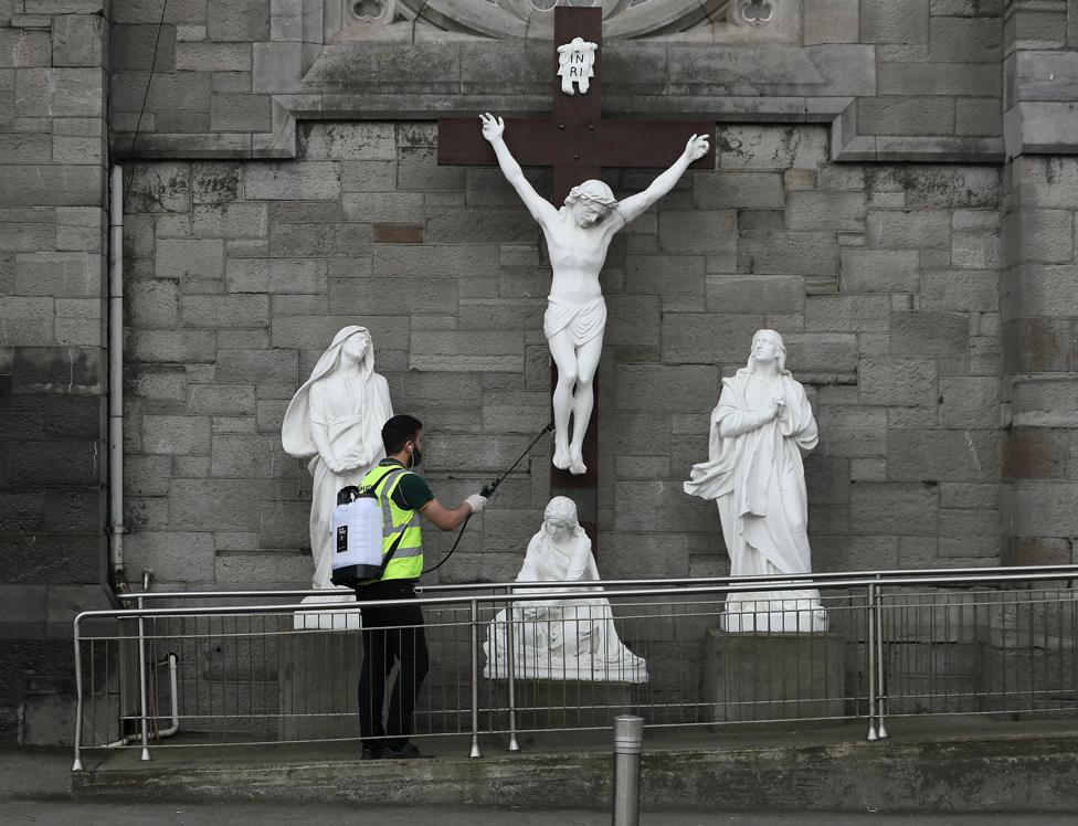
[[[494, 682], [499, 710], [492, 722], [506, 730], [509, 727], [509, 684], [507, 680]], [[610, 728], [617, 714], [633, 713], [633, 689], [627, 682], [517, 680], [514, 695], [517, 730]], [[579, 742], [578, 734], [559, 731], [556, 737], [564, 742]]]

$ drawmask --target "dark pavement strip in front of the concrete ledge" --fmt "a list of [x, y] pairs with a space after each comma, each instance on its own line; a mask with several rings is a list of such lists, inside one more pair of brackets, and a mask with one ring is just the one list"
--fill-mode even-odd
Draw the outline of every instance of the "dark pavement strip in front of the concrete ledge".
[[[68, 749], [0, 748], [0, 824], [47, 826], [173, 826], [229, 824], [229, 826], [340, 826], [347, 824], [437, 824], [437, 826], [598, 826], [609, 824], [607, 811], [530, 809], [521, 806], [477, 807], [443, 805], [371, 806], [355, 803], [303, 802], [188, 802], [77, 799], [71, 787], [72, 753]], [[1055, 826], [1078, 825], [1074, 815], [1033, 814], [880, 814], [860, 813], [663, 813], [644, 812], [643, 826]]]

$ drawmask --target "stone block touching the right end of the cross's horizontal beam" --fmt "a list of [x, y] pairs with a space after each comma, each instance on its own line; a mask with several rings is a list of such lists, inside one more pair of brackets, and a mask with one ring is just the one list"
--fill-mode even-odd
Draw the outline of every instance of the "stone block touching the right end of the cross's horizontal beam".
[[816, 169], [827, 160], [827, 130], [816, 125], [720, 126], [719, 169]]

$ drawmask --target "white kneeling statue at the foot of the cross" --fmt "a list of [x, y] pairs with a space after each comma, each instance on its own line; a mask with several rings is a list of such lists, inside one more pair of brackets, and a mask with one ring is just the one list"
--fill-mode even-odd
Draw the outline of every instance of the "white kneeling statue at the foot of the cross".
[[[517, 582], [594, 582], [598, 579], [591, 540], [577, 521], [575, 502], [556, 496], [543, 511], [542, 527], [528, 543]], [[567, 585], [554, 590], [586, 594], [601, 589]], [[515, 594], [550, 591], [550, 587], [512, 589]], [[485, 677], [505, 678], [509, 674], [508, 616], [507, 611], [501, 611], [487, 629], [487, 640], [483, 644]], [[603, 596], [517, 602], [512, 608], [511, 636], [516, 677], [647, 681], [647, 665], [617, 638], [610, 602]]]

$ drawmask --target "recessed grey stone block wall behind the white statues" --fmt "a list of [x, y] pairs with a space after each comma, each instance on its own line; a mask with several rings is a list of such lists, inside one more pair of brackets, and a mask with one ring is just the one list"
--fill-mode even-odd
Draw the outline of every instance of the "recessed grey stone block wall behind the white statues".
[[[820, 422], [806, 465], [816, 566], [995, 563], [997, 169], [835, 165], [818, 126], [716, 139], [718, 168], [630, 226], [604, 271], [603, 573], [727, 570], [714, 506], [680, 487], [706, 457], [720, 375], [760, 327], [785, 337]], [[296, 161], [135, 169], [130, 571], [306, 580], [309, 483], [282, 454], [281, 420], [346, 324], [371, 329], [394, 409], [425, 422], [447, 502], [548, 421], [538, 230], [496, 170], [437, 168], [435, 140], [433, 124], [307, 124]], [[609, 180], [622, 195], [649, 177]], [[443, 581], [515, 575], [548, 456], [543, 444], [474, 520]]]

